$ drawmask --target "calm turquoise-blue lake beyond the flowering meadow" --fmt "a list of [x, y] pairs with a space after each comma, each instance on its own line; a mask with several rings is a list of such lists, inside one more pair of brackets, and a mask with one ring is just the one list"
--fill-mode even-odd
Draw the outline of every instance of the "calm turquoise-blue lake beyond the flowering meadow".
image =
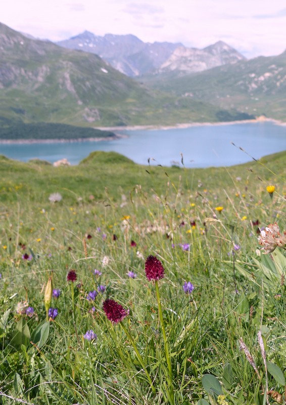
[[0, 144], [0, 154], [23, 161], [39, 158], [51, 163], [66, 157], [76, 165], [90, 152], [103, 150], [121, 153], [143, 165], [153, 158], [150, 164], [171, 166], [180, 164], [182, 153], [185, 167], [205, 168], [246, 163], [252, 160], [251, 156], [259, 159], [286, 149], [286, 126], [271, 122], [117, 133], [126, 137], [100, 142]]

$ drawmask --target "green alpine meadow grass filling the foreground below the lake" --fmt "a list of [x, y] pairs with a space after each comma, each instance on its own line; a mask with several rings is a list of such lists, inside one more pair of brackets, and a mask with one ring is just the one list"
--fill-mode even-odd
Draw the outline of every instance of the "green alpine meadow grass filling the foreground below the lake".
[[[275, 403], [267, 388], [281, 403], [286, 259], [261, 255], [253, 222], [285, 228], [285, 155], [197, 170], [113, 152], [67, 168], [1, 157], [0, 403]], [[156, 284], [149, 255], [165, 268]], [[49, 302], [51, 274], [61, 294]], [[122, 327], [107, 298], [129, 311]]]

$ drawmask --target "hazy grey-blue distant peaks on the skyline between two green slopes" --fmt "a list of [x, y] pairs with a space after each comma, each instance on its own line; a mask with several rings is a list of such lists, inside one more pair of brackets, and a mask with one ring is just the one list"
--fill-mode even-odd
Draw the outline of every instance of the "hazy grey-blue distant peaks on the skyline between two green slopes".
[[193, 73], [246, 59], [222, 41], [197, 49], [186, 48], [180, 43], [144, 43], [130, 34], [99, 36], [84, 31], [57, 44], [97, 54], [131, 77], [172, 70]]

